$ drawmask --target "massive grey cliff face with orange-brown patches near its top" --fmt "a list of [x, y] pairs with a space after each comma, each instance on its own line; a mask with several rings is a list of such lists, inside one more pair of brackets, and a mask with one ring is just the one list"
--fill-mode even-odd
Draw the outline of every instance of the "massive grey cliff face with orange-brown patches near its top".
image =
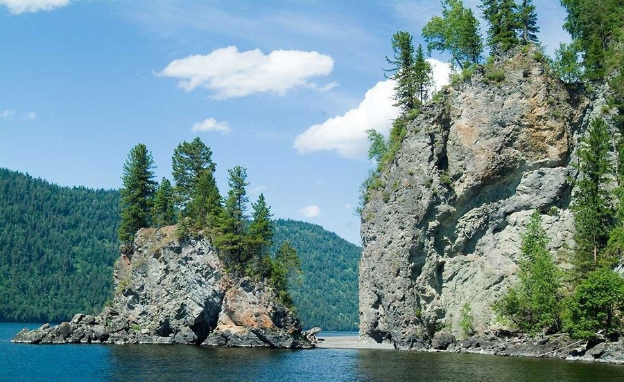
[[572, 243], [571, 163], [603, 101], [566, 89], [536, 54], [478, 69], [408, 125], [362, 213], [362, 336], [429, 347], [440, 327], [460, 332], [464, 304], [478, 331], [494, 327], [535, 209], [551, 250]]

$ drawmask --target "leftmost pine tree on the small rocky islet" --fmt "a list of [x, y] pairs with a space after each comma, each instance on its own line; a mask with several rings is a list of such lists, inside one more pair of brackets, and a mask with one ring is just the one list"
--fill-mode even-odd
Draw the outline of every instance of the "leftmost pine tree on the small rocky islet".
[[146, 145], [139, 143], [132, 147], [123, 164], [121, 180], [121, 221], [119, 223], [119, 240], [130, 243], [139, 228], [151, 224], [156, 182], [152, 171], [154, 160]]

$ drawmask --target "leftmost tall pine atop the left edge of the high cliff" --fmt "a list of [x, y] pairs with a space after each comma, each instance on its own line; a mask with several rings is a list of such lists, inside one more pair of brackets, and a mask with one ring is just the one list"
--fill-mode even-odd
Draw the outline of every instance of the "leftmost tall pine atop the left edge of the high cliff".
[[394, 65], [386, 72], [391, 72], [395, 80], [395, 106], [405, 114], [417, 107], [417, 94], [414, 76], [414, 45], [412, 35], [407, 32], [397, 32], [392, 36], [392, 59], [385, 57], [388, 64]]

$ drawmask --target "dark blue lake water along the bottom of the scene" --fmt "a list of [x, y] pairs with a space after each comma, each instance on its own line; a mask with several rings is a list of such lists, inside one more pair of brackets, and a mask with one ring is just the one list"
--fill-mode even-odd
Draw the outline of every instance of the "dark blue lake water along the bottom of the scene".
[[624, 366], [394, 350], [22, 345], [0, 323], [0, 381], [624, 381]]

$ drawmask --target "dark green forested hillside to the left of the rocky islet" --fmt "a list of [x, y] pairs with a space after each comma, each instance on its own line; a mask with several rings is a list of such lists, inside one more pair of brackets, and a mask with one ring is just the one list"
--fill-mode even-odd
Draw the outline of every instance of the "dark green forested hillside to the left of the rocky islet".
[[0, 322], [60, 322], [102, 307], [119, 256], [119, 199], [0, 169]]

